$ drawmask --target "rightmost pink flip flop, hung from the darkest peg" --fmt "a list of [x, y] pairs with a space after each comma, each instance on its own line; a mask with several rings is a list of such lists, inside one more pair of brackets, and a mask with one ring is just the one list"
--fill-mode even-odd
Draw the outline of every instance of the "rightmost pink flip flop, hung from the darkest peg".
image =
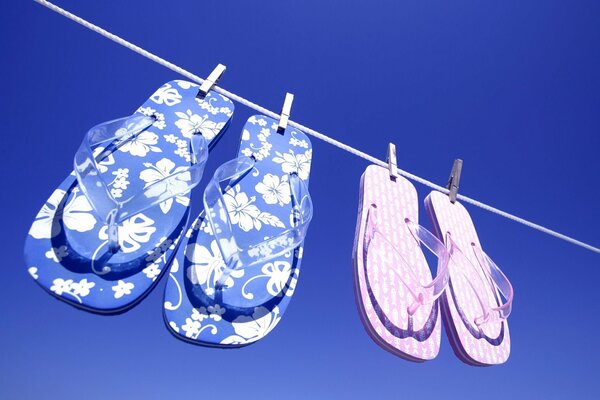
[[513, 289], [502, 271], [483, 252], [465, 207], [433, 191], [425, 208], [434, 232], [450, 253], [450, 282], [440, 297], [442, 318], [452, 348], [467, 364], [506, 362]]

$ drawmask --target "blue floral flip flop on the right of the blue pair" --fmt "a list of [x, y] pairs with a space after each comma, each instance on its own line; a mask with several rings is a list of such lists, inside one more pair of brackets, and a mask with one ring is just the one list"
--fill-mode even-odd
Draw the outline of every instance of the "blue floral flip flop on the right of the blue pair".
[[248, 120], [238, 158], [217, 168], [171, 265], [164, 318], [177, 338], [241, 347], [280, 321], [312, 218], [311, 159], [302, 132], [278, 131], [265, 116]]

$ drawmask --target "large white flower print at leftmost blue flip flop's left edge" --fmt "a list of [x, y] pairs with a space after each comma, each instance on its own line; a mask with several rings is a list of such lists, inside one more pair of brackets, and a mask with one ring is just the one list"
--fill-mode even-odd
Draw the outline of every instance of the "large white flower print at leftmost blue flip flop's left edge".
[[66, 192], [56, 189], [35, 217], [29, 234], [36, 239], [53, 238], [61, 232], [60, 220], [68, 230], [77, 232], [92, 230], [96, 225], [92, 206], [85, 196], [80, 196], [78, 193], [78, 189], [73, 189], [67, 201]]

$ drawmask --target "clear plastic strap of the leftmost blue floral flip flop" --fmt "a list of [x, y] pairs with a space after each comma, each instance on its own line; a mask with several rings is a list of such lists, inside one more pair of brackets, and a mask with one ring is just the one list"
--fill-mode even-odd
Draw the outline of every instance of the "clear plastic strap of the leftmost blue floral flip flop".
[[[152, 117], [132, 115], [97, 125], [87, 132], [75, 153], [73, 164], [77, 182], [96, 215], [108, 225], [109, 249], [112, 252], [119, 249], [120, 222], [165, 200], [189, 192], [202, 178], [208, 158], [208, 145], [197, 134], [191, 139], [190, 166], [176, 168], [168, 175], [159, 171], [163, 175], [160, 180], [147, 184], [141, 191], [123, 201], [112, 196], [98, 163], [153, 123]], [[95, 155], [99, 148], [101, 151]]]

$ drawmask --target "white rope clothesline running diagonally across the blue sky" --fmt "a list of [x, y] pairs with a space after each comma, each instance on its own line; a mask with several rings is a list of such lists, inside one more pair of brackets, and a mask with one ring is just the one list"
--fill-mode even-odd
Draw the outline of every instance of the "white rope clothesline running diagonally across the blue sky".
[[[91, 22], [88, 22], [88, 21], [84, 20], [83, 18], [78, 17], [75, 14], [72, 14], [72, 13], [70, 13], [70, 12], [68, 12], [68, 11], [66, 11], [66, 10], [64, 10], [64, 9], [62, 9], [62, 8], [60, 8], [60, 7], [52, 4], [52, 3], [50, 3], [49, 1], [46, 1], [46, 0], [34, 0], [34, 1], [37, 2], [37, 3], [39, 3], [39, 4], [41, 4], [41, 5], [43, 5], [43, 6], [45, 6], [45, 7], [48, 7], [50, 10], [52, 10], [52, 11], [54, 11], [54, 12], [56, 12], [56, 13], [64, 16], [64, 17], [67, 17], [68, 19], [70, 19], [72, 21], [77, 22], [78, 24], [83, 25], [84, 27], [86, 27], [86, 28], [88, 28], [88, 29], [90, 29], [90, 30], [92, 30], [92, 31], [94, 31], [94, 32], [96, 32], [96, 33], [104, 36], [105, 38], [108, 38], [108, 39], [112, 40], [113, 42], [115, 42], [117, 44], [120, 44], [121, 46], [126, 47], [129, 50], [132, 50], [132, 51], [134, 51], [134, 52], [136, 52], [136, 53], [138, 53], [138, 54], [140, 54], [140, 55], [142, 55], [142, 56], [144, 56], [144, 57], [146, 57], [146, 58], [154, 61], [157, 64], [160, 64], [160, 65], [162, 65], [164, 67], [169, 68], [170, 70], [172, 70], [172, 71], [174, 71], [174, 72], [176, 72], [176, 73], [178, 73], [178, 74], [180, 74], [180, 75], [188, 78], [191, 81], [194, 81], [194, 82], [196, 82], [198, 84], [202, 84], [204, 82], [204, 79], [202, 79], [198, 75], [195, 75], [195, 74], [193, 74], [193, 73], [191, 73], [191, 72], [189, 72], [189, 71], [187, 71], [187, 70], [185, 70], [185, 69], [183, 69], [183, 68], [181, 68], [181, 67], [179, 67], [179, 66], [177, 66], [177, 65], [175, 65], [175, 64], [173, 64], [173, 63], [171, 63], [171, 62], [169, 62], [167, 60], [165, 60], [164, 58], [161, 58], [161, 57], [159, 57], [159, 56], [157, 56], [155, 54], [152, 54], [149, 51], [144, 50], [141, 47], [136, 46], [133, 43], [128, 42], [127, 40], [125, 40], [125, 39], [123, 39], [123, 38], [121, 38], [121, 37], [119, 37], [119, 36], [117, 36], [115, 34], [112, 34], [112, 33], [108, 32], [107, 30], [100, 28], [97, 25], [94, 25]], [[222, 94], [223, 96], [227, 96], [231, 100], [236, 101], [236, 102], [238, 102], [238, 103], [240, 103], [242, 105], [245, 105], [246, 107], [252, 108], [252, 109], [260, 112], [261, 114], [267, 115], [267, 116], [269, 116], [271, 118], [275, 118], [275, 119], [279, 118], [279, 114], [274, 113], [273, 111], [270, 111], [270, 110], [268, 110], [268, 109], [266, 109], [266, 108], [264, 108], [264, 107], [262, 107], [262, 106], [260, 106], [260, 105], [258, 105], [256, 103], [253, 103], [253, 102], [251, 102], [251, 101], [249, 101], [249, 100], [247, 100], [247, 99], [245, 99], [245, 98], [243, 98], [241, 96], [238, 96], [238, 95], [236, 95], [234, 93], [231, 93], [231, 92], [229, 92], [229, 91], [227, 91], [227, 90], [225, 90], [225, 89], [223, 89], [221, 87], [213, 86], [212, 90], [214, 90], [217, 93]], [[375, 158], [375, 157], [373, 157], [373, 156], [371, 156], [371, 155], [369, 155], [367, 153], [364, 153], [364, 152], [362, 152], [362, 151], [360, 151], [358, 149], [355, 149], [354, 147], [348, 146], [347, 144], [342, 143], [342, 142], [340, 142], [338, 140], [332, 139], [329, 136], [324, 135], [323, 133], [317, 132], [314, 129], [311, 129], [311, 128], [307, 127], [307, 126], [301, 125], [301, 124], [299, 124], [297, 122], [294, 122], [294, 121], [291, 121], [291, 120], [289, 121], [289, 125], [293, 126], [296, 129], [299, 129], [299, 130], [301, 130], [301, 131], [303, 131], [303, 132], [305, 132], [305, 133], [307, 133], [307, 134], [309, 134], [311, 136], [314, 136], [317, 139], [321, 139], [324, 142], [327, 142], [327, 143], [329, 143], [329, 144], [331, 144], [331, 145], [333, 145], [335, 147], [338, 147], [338, 148], [340, 148], [342, 150], [345, 150], [345, 151], [347, 151], [347, 152], [349, 152], [351, 154], [354, 154], [355, 156], [361, 157], [361, 158], [363, 158], [363, 159], [365, 159], [365, 160], [367, 160], [369, 162], [372, 162], [373, 164], [377, 164], [377, 165], [380, 165], [380, 166], [386, 167], [386, 168], [388, 166], [387, 163], [384, 162], [384, 161], [381, 161], [381, 160], [379, 160], [379, 159], [377, 159], [377, 158]], [[421, 184], [423, 184], [425, 186], [428, 186], [428, 187], [430, 187], [432, 189], [439, 190], [440, 192], [443, 192], [443, 193], [446, 193], [446, 194], [448, 193], [448, 189], [446, 189], [445, 187], [442, 187], [440, 185], [436, 185], [435, 183], [430, 182], [430, 181], [428, 181], [426, 179], [423, 179], [423, 178], [421, 178], [421, 177], [419, 177], [417, 175], [411, 174], [410, 172], [407, 172], [407, 171], [404, 171], [404, 170], [398, 168], [398, 173], [400, 175], [405, 176], [408, 179], [411, 179], [411, 180], [413, 180], [415, 182], [421, 183]], [[494, 214], [500, 215], [501, 217], [508, 218], [508, 219], [510, 219], [512, 221], [515, 221], [515, 222], [518, 222], [520, 224], [523, 224], [523, 225], [525, 225], [525, 226], [527, 226], [529, 228], [536, 229], [536, 230], [538, 230], [540, 232], [543, 232], [543, 233], [546, 233], [546, 234], [548, 234], [550, 236], [554, 236], [554, 237], [556, 237], [558, 239], [564, 240], [564, 241], [569, 242], [571, 244], [574, 244], [576, 246], [580, 246], [580, 247], [583, 247], [584, 249], [591, 250], [591, 251], [593, 251], [595, 253], [599, 253], [600, 254], [600, 248], [598, 248], [598, 247], [591, 246], [591, 245], [589, 245], [587, 243], [581, 242], [581, 241], [579, 241], [577, 239], [574, 239], [572, 237], [569, 237], [567, 235], [563, 235], [562, 233], [558, 233], [558, 232], [553, 231], [551, 229], [548, 229], [548, 228], [546, 228], [544, 226], [541, 226], [541, 225], [535, 224], [533, 222], [527, 221], [526, 219], [523, 219], [523, 218], [517, 217], [515, 215], [509, 214], [509, 213], [507, 213], [505, 211], [499, 210], [499, 209], [497, 209], [495, 207], [489, 206], [487, 204], [484, 204], [484, 203], [482, 203], [480, 201], [474, 200], [474, 199], [472, 199], [470, 197], [467, 197], [467, 196], [464, 196], [462, 194], [459, 194], [457, 196], [457, 198], [459, 200], [462, 200], [465, 203], [472, 204], [472, 205], [474, 205], [476, 207], [479, 207], [479, 208], [482, 208], [482, 209], [484, 209], [486, 211], [489, 211], [489, 212], [492, 212]]]

